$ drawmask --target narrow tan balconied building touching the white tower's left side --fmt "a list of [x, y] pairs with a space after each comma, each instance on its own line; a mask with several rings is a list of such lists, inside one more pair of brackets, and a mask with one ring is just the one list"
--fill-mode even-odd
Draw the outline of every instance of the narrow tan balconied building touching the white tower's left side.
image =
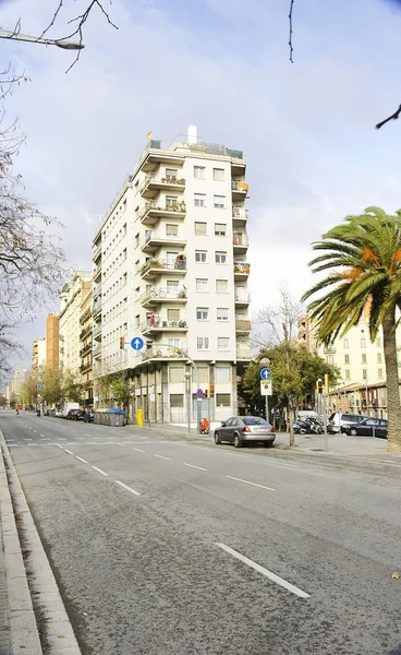
[[92, 287], [85, 294], [81, 302], [80, 315], [80, 356], [81, 356], [81, 380], [83, 384], [83, 402], [86, 407], [94, 406], [94, 376], [93, 376], [93, 317], [92, 317], [93, 290]]

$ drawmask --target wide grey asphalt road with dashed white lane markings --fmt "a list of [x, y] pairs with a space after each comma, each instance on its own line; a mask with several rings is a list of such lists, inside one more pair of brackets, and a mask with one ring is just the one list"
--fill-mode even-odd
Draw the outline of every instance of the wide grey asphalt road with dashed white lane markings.
[[400, 467], [0, 427], [85, 655], [401, 653]]

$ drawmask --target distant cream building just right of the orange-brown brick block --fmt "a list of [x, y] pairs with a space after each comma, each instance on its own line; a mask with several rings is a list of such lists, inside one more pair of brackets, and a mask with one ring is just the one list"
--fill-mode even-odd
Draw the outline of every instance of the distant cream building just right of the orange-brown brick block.
[[81, 367], [81, 303], [92, 287], [92, 273], [77, 271], [60, 294], [60, 368], [80, 373]]

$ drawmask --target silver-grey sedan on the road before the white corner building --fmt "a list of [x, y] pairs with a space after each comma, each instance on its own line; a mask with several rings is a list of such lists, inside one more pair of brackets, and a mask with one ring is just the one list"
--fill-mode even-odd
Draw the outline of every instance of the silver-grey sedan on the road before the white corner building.
[[271, 425], [259, 416], [233, 416], [215, 430], [215, 443], [227, 441], [235, 448], [251, 442], [272, 445], [275, 439], [276, 432]]

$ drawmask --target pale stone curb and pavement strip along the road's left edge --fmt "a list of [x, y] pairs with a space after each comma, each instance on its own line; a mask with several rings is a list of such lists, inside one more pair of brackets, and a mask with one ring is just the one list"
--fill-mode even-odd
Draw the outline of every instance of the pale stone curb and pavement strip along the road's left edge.
[[[46, 653], [81, 655], [75, 634], [61, 599], [50, 563], [40, 541], [13, 461], [0, 429], [0, 510], [4, 540], [5, 580], [10, 606], [12, 653], [44, 655], [32, 597], [39, 606]], [[9, 480], [4, 463], [9, 469]], [[12, 498], [11, 500], [11, 492]], [[14, 515], [21, 516], [32, 571], [28, 586]], [[32, 582], [31, 582], [32, 581]]]

